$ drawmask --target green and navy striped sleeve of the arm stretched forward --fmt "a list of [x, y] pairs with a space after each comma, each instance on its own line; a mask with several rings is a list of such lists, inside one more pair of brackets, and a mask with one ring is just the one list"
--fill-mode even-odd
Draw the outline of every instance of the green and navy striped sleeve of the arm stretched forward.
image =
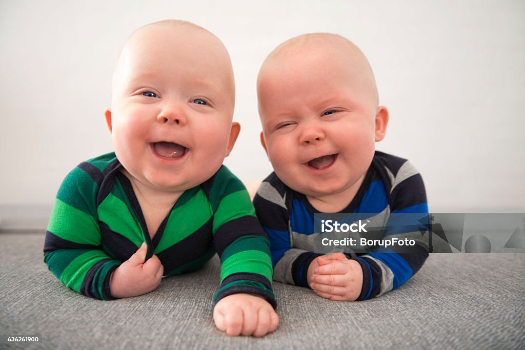
[[260, 227], [244, 185], [222, 169], [210, 192], [212, 207], [216, 208], [215, 249], [220, 258], [220, 287], [214, 300], [236, 293], [256, 294], [275, 309], [268, 237]]

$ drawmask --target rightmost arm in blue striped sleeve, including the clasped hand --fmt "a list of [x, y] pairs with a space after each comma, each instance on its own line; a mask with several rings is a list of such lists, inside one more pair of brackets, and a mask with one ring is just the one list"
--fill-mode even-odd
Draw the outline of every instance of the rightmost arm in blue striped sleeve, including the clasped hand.
[[[424, 214], [428, 213], [423, 179], [408, 162], [403, 165], [403, 171], [401, 173], [409, 174], [409, 176], [406, 176], [403, 181], [398, 182], [395, 188], [390, 191], [388, 200], [391, 205], [392, 214], [386, 225], [385, 236], [389, 238], [413, 239], [415, 246], [411, 247], [411, 251], [409, 252], [406, 251], [406, 247], [402, 247], [403, 250], [398, 250], [393, 246], [389, 249], [379, 248], [372, 253], [351, 260], [345, 260], [346, 256], [339, 253], [337, 260], [340, 259], [344, 264], [353, 264], [353, 266], [356, 267], [355, 271], [359, 271], [359, 269], [357, 269], [358, 265], [361, 267], [362, 288], [358, 297], [353, 300], [375, 298], [399, 287], [423, 266], [423, 263], [428, 257], [428, 236], [422, 235], [422, 229], [425, 229], [425, 222], [421, 221]], [[333, 256], [334, 254], [330, 255]], [[328, 256], [323, 258], [328, 258]], [[311, 272], [311, 274], [309, 273], [309, 284], [316, 293], [318, 291], [329, 291], [328, 296], [330, 296], [330, 294], [338, 295], [337, 297], [331, 296], [331, 299], [339, 299], [339, 296], [346, 291], [337, 288], [342, 287], [341, 278], [333, 278], [333, 274], [330, 272], [332, 269], [337, 271], [339, 271], [338, 269], [342, 269], [346, 273], [346, 270], [341, 267], [335, 268], [335, 265], [341, 264], [339, 261], [324, 265], [321, 263], [321, 265], [323, 265], [321, 267], [317, 266], [318, 261], [319, 258], [314, 260], [309, 268], [309, 272]], [[316, 268], [320, 272], [311, 278]], [[319, 275], [325, 274], [327, 270], [329, 277]], [[349, 282], [352, 276], [355, 277], [355, 274], [345, 274], [345, 276], [348, 278], [345, 279], [345, 281]], [[359, 284], [356, 281], [354, 282]], [[319, 283], [321, 283], [321, 285]], [[332, 291], [334, 293], [331, 293]], [[317, 294], [325, 298], [328, 297], [325, 294]]]

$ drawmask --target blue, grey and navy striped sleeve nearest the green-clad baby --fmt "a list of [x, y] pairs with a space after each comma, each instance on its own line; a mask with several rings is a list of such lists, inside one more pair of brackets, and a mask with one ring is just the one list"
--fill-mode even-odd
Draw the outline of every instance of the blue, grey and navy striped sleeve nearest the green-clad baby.
[[[289, 218], [291, 204], [287, 204], [285, 185], [271, 174], [261, 183], [254, 198], [257, 217], [270, 240], [274, 280], [308, 287], [308, 267], [322, 254], [291, 247]], [[291, 195], [288, 193], [288, 196]]]

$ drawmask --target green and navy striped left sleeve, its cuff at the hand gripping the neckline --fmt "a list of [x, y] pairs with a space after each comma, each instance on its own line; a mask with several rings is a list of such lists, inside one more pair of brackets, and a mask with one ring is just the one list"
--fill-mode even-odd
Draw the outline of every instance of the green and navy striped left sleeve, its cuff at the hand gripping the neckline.
[[46, 232], [44, 262], [66, 287], [110, 300], [109, 278], [121, 262], [101, 249], [96, 207], [99, 173], [95, 166], [82, 163], [62, 182]]

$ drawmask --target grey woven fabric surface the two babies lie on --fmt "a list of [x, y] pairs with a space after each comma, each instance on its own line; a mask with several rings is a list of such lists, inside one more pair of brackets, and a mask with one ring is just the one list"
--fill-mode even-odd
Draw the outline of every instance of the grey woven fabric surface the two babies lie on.
[[[279, 328], [228, 337], [212, 319], [218, 259], [146, 295], [89, 299], [43, 263], [44, 235], [0, 234], [0, 348], [525, 348], [525, 254], [432, 254], [402, 287], [334, 302], [274, 282]], [[38, 335], [39, 343], [7, 336]]]

